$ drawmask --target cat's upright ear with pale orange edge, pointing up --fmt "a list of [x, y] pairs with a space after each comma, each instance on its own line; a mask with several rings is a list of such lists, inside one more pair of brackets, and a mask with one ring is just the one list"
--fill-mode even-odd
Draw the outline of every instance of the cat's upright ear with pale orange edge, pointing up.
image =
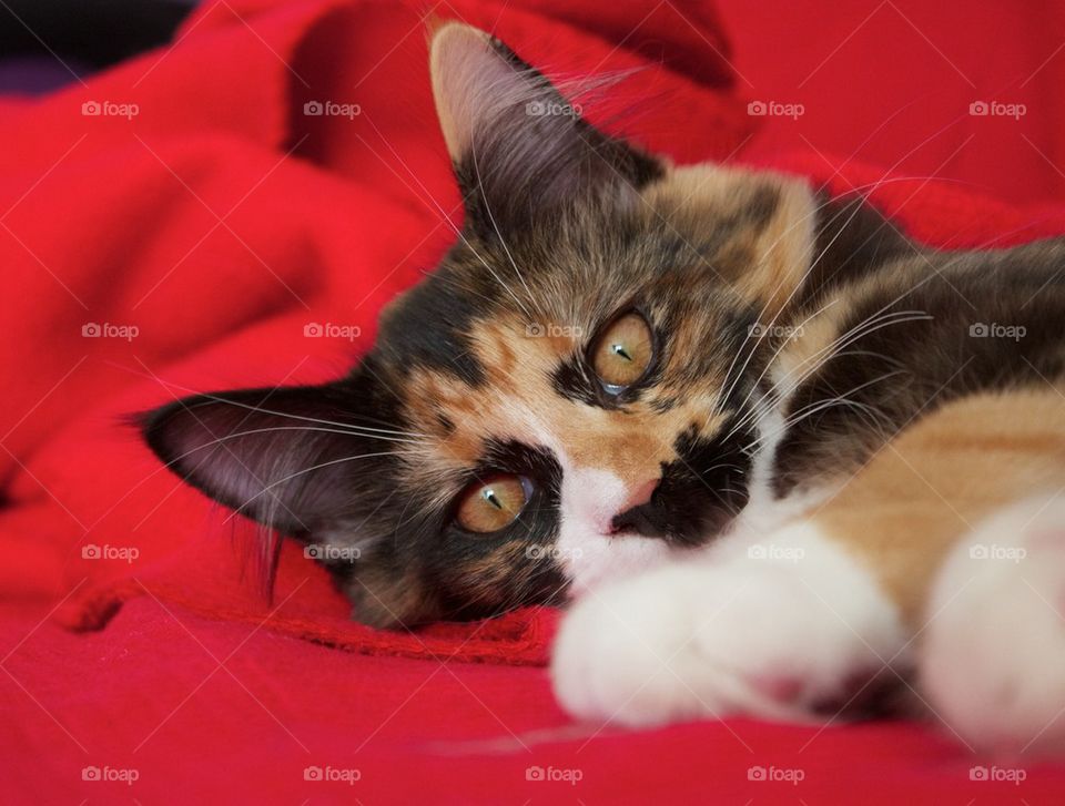
[[498, 227], [604, 195], [631, 195], [662, 163], [611, 137], [537, 70], [457, 22], [429, 45], [433, 94], [473, 224]]

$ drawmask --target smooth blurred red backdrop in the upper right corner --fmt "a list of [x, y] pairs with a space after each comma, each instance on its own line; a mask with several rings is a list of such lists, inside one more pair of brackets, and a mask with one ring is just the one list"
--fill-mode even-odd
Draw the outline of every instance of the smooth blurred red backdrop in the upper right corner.
[[[921, 0], [719, 0], [752, 99], [801, 103], [763, 119], [748, 154], [798, 149], [935, 175], [1016, 204], [1065, 195], [1065, 6]], [[1023, 104], [1021, 118], [970, 104]]]

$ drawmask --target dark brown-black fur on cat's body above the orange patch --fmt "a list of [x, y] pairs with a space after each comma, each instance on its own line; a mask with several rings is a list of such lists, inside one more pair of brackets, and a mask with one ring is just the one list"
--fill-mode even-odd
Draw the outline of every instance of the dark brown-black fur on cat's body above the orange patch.
[[[923, 279], [912, 287], [885, 283], [842, 329], [893, 312], [926, 318], [870, 328], [795, 390], [789, 417], [842, 399], [789, 429], [774, 461], [777, 497], [824, 468], [856, 471], [901, 429], [958, 397], [1037, 387], [1065, 374], [1065, 275], [1057, 274], [1065, 244], [922, 255], [906, 265], [921, 269]], [[853, 262], [848, 271], [871, 269]]]

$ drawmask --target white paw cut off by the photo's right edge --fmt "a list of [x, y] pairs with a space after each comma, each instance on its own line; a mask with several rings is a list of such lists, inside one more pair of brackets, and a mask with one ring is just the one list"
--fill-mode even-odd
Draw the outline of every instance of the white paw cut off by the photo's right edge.
[[941, 570], [920, 674], [935, 714], [982, 751], [1065, 751], [1065, 501], [980, 524]]

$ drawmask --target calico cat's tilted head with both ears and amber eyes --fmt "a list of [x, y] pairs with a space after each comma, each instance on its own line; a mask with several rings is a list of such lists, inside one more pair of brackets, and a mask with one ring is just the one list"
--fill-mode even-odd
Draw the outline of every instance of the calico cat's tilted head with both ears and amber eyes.
[[144, 422], [191, 484], [323, 547], [376, 625], [562, 601], [712, 540], [748, 499], [759, 325], [811, 258], [800, 183], [608, 136], [466, 25], [430, 62], [465, 202], [439, 267], [348, 377]]

